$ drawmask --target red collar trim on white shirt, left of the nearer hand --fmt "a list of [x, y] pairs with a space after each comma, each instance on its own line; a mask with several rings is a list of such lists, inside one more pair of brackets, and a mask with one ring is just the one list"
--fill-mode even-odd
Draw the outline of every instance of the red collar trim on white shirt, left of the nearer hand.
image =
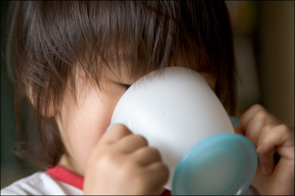
[[46, 172], [59, 181], [65, 182], [78, 189], [83, 190], [84, 177], [78, 175], [77, 173], [71, 172], [60, 166], [48, 169]]

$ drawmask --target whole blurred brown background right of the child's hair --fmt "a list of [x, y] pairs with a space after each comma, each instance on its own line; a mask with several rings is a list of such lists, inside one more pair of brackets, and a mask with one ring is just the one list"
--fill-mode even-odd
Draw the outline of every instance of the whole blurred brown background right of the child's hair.
[[226, 1], [231, 15], [239, 117], [260, 103], [294, 126], [294, 1]]

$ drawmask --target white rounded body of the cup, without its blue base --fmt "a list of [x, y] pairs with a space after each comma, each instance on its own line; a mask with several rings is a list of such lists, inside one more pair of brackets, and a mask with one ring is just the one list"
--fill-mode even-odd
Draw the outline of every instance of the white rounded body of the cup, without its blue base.
[[120, 98], [111, 123], [122, 123], [156, 147], [168, 166], [165, 185], [172, 189], [177, 164], [200, 141], [234, 133], [220, 100], [197, 72], [183, 67], [152, 72], [135, 82]]

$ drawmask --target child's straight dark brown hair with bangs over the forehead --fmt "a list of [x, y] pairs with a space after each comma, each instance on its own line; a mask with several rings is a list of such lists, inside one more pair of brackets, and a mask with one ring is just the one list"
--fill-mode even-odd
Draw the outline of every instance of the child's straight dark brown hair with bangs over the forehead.
[[230, 114], [235, 111], [235, 60], [224, 1], [18, 1], [11, 20], [7, 61], [16, 116], [27, 98], [36, 111], [43, 156], [19, 154], [33, 164], [53, 167], [65, 153], [48, 111], [58, 111], [67, 80], [76, 98], [79, 71], [100, 88], [104, 71], [119, 70], [121, 62], [132, 78], [172, 65], [189, 67], [211, 74], [216, 95]]

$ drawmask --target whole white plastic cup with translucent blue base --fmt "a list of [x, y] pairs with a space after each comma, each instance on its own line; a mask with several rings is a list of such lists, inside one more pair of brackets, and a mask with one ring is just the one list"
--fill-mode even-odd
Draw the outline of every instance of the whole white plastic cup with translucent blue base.
[[241, 195], [257, 167], [256, 150], [234, 133], [222, 103], [197, 72], [169, 67], [136, 81], [111, 123], [122, 123], [156, 147], [173, 195]]

